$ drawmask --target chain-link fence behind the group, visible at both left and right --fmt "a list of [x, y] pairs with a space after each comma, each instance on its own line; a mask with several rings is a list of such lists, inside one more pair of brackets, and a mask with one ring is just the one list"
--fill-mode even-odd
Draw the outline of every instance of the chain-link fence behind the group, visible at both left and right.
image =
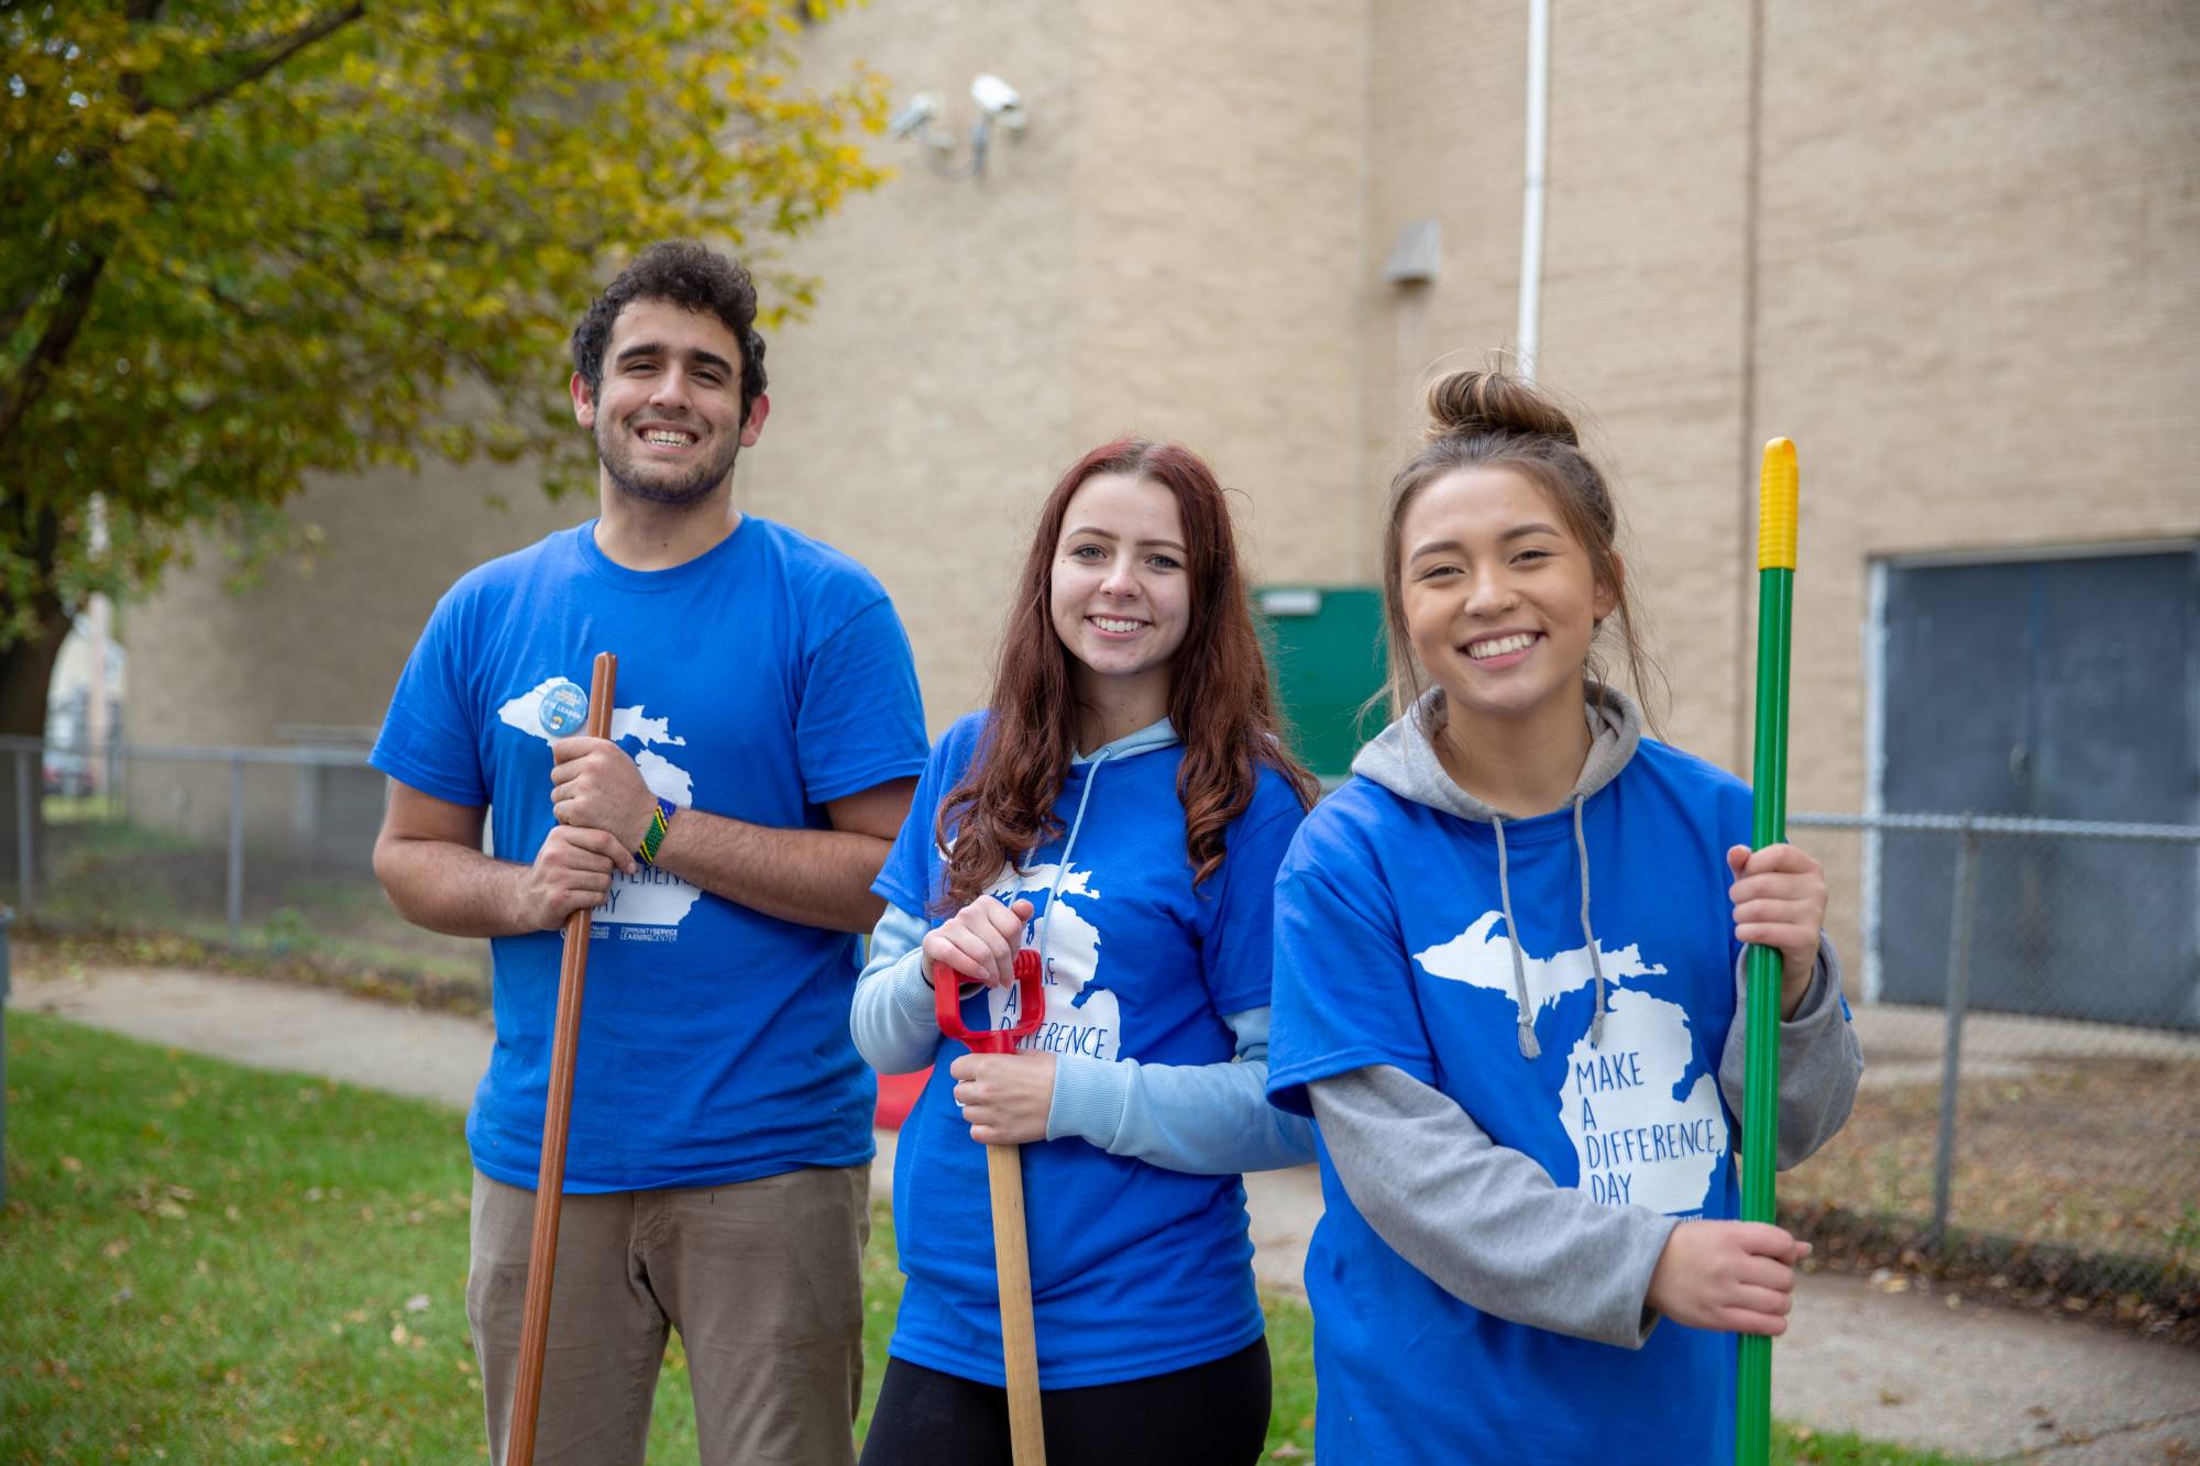
[[[486, 999], [486, 944], [407, 925], [374, 883], [359, 742], [0, 759], [0, 900], [33, 931]], [[1784, 1215], [1822, 1246], [2200, 1321], [2200, 828], [1789, 823], [1828, 869], [1866, 1081], [1782, 1178]]]

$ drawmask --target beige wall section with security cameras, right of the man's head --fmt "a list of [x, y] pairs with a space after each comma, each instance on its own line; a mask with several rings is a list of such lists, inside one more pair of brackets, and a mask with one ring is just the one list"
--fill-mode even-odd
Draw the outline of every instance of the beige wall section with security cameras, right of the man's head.
[[878, 4], [816, 31], [818, 68], [862, 57], [957, 136], [981, 70], [1030, 112], [983, 180], [880, 145], [900, 176], [801, 247], [825, 297], [772, 346], [744, 486], [880, 575], [935, 731], [983, 700], [1041, 497], [1118, 434], [1206, 453], [1263, 575], [1351, 577], [1364, 44], [1362, 7], [1311, 0]]

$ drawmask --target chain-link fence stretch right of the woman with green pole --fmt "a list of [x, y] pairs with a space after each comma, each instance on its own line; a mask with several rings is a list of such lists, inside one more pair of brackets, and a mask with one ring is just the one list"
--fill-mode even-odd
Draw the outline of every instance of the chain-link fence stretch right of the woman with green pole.
[[2200, 1319], [2200, 828], [1795, 814], [1866, 1079], [1813, 1235], [2072, 1312]]

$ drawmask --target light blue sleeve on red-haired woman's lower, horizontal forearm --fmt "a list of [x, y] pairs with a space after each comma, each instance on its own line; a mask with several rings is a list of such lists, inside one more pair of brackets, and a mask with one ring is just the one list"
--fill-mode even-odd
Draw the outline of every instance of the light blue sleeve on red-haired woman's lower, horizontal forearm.
[[1047, 1140], [1080, 1136], [1109, 1156], [1232, 1175], [1313, 1160], [1313, 1125], [1267, 1103], [1267, 1008], [1223, 1015], [1236, 1057], [1140, 1063], [1060, 1054]]

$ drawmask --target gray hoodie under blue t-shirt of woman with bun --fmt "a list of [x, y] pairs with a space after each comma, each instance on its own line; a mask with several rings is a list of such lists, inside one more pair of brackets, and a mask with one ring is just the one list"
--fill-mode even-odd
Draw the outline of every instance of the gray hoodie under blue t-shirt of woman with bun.
[[[1445, 773], [1428, 737], [1432, 689], [1406, 718], [1360, 751], [1353, 773], [1382, 788], [1461, 819], [1492, 825], [1498, 845], [1498, 896], [1514, 931], [1505, 880], [1505, 821]], [[1595, 960], [1591, 861], [1582, 803], [1619, 777], [1641, 742], [1641, 713], [1613, 687], [1591, 685], [1584, 707], [1593, 742], [1566, 803], [1582, 861], [1582, 936]], [[1520, 947], [1514, 938], [1514, 997], [1520, 1052], [1536, 1054]], [[1597, 969], [1604, 1021], [1604, 973]], [[1795, 1017], [1780, 1024], [1778, 1164], [1808, 1158], [1848, 1118], [1863, 1054], [1841, 1008], [1841, 969], [1819, 938], [1819, 962]], [[1742, 969], [1736, 964], [1736, 1013]], [[1745, 1024], [1736, 1017], [1720, 1054], [1718, 1085], [1742, 1109]], [[1489, 1140], [1448, 1094], [1393, 1065], [1368, 1065], [1309, 1085], [1329, 1158], [1353, 1204], [1390, 1248], [1472, 1308], [1597, 1343], [1641, 1347], [1657, 1323], [1650, 1274], [1679, 1224], [1648, 1206], [1606, 1206], [1558, 1186], [1531, 1156]]]

